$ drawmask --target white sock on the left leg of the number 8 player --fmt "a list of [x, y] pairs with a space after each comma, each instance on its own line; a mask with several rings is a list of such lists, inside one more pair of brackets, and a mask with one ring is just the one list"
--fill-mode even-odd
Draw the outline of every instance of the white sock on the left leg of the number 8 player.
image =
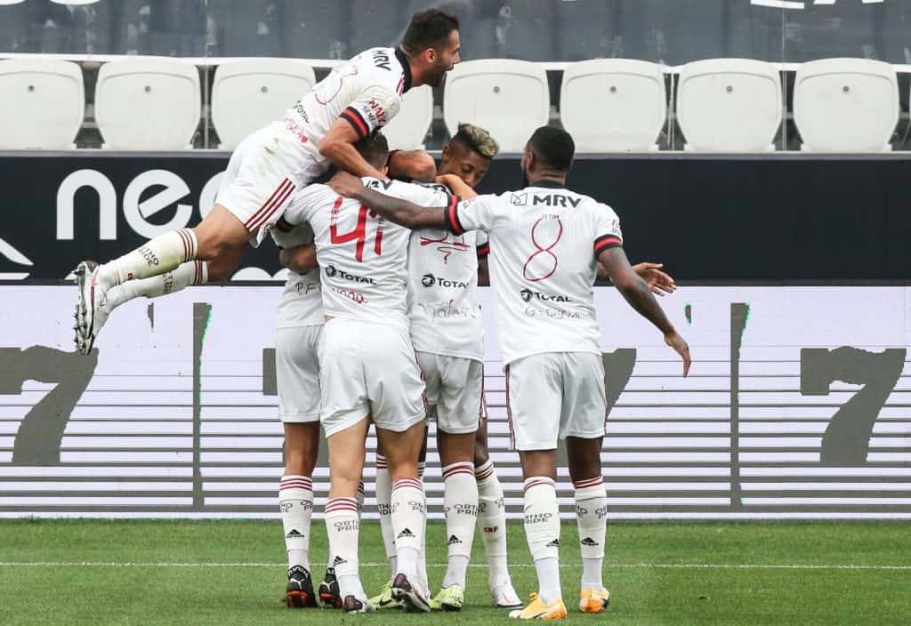
[[560, 591], [560, 516], [557, 485], [546, 476], [525, 481], [525, 535], [537, 570], [537, 593], [545, 604], [563, 597]]

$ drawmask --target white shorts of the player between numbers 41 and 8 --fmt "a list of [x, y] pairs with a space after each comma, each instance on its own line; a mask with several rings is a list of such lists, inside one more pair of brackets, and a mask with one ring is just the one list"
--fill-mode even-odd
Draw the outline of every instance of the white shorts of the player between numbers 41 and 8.
[[475, 432], [481, 414], [484, 363], [420, 351], [417, 362], [424, 372], [427, 404], [436, 427], [451, 435]]

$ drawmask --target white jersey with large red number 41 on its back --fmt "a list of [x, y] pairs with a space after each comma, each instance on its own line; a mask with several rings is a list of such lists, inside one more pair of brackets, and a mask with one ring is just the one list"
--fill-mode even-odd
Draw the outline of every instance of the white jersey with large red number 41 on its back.
[[[363, 182], [417, 205], [445, 206], [445, 196], [432, 189], [369, 177]], [[307, 222], [312, 227], [316, 260], [322, 269], [322, 309], [326, 316], [408, 328], [410, 230], [387, 222], [325, 185], [311, 185], [296, 194], [285, 219], [294, 225]]]

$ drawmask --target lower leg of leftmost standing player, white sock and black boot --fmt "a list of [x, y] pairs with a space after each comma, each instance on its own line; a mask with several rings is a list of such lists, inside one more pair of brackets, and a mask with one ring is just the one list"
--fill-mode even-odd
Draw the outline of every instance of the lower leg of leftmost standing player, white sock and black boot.
[[285, 422], [285, 469], [279, 483], [281, 526], [288, 552], [289, 609], [316, 606], [310, 573], [310, 521], [313, 511], [313, 468], [320, 451], [320, 423]]

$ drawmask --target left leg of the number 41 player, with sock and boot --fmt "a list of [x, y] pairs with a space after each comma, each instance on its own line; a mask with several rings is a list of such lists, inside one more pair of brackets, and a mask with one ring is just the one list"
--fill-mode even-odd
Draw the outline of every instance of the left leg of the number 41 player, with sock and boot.
[[325, 521], [329, 534], [329, 551], [338, 576], [343, 610], [373, 612], [376, 609], [363, 591], [358, 570], [360, 519], [357, 491], [363, 475], [363, 455], [370, 422], [364, 416], [350, 428], [334, 433], [329, 446], [329, 500]]

